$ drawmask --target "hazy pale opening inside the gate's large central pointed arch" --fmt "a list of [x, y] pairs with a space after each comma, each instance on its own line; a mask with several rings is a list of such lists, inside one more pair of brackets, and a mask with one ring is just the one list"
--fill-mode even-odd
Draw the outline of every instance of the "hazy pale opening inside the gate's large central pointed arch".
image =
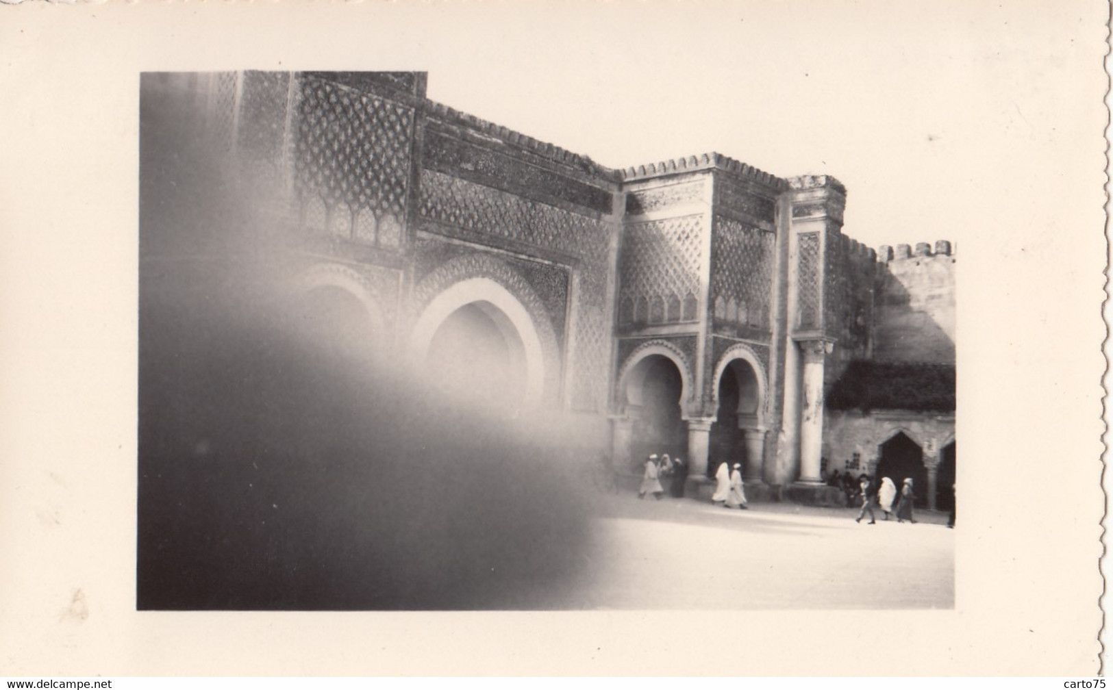
[[522, 338], [490, 302], [465, 304], [433, 333], [425, 366], [431, 381], [453, 400], [515, 407], [528, 393]]

